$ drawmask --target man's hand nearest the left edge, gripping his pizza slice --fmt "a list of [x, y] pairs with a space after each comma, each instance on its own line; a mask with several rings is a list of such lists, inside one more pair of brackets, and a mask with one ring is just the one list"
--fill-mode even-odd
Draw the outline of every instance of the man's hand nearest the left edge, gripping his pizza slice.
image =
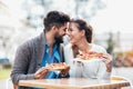
[[43, 79], [48, 73], [47, 68], [40, 68], [35, 73], [34, 73], [34, 79]]

